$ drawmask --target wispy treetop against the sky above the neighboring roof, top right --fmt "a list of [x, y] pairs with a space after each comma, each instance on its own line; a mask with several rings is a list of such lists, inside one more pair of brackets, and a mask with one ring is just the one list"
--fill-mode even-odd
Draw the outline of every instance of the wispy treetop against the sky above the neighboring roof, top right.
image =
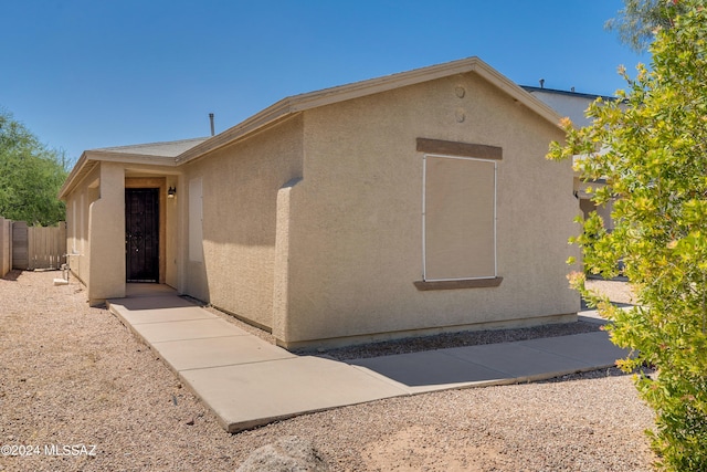
[[658, 28], [669, 28], [676, 12], [684, 11], [679, 0], [624, 0], [619, 15], [606, 21], [605, 28], [634, 51], [645, 51]]

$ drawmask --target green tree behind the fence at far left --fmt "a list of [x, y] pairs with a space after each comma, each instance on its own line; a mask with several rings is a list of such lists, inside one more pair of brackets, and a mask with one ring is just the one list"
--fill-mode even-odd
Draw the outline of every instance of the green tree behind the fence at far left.
[[62, 153], [46, 146], [12, 115], [0, 111], [0, 216], [29, 224], [65, 219], [57, 193], [66, 178]]

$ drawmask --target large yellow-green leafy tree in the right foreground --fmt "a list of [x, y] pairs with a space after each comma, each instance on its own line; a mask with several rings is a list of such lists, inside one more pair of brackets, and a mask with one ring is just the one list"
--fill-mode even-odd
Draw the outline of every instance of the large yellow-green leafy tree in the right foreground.
[[[620, 101], [597, 101], [593, 124], [566, 120], [564, 145], [549, 158], [576, 160], [584, 181], [605, 179], [597, 204], [614, 200], [613, 231], [592, 212], [572, 241], [585, 271], [631, 281], [639, 305], [623, 311], [572, 285], [609, 321], [612, 340], [632, 350], [636, 387], [655, 410], [648, 432], [667, 470], [707, 471], [707, 9], [684, 0], [651, 45]], [[678, 14], [679, 13], [679, 14]], [[620, 269], [621, 268], [621, 269]], [[645, 374], [646, 367], [655, 369]]]

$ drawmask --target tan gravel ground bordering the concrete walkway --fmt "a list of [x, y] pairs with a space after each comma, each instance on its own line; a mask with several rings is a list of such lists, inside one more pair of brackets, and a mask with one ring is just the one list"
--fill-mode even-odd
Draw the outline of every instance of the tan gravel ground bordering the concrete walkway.
[[615, 369], [387, 399], [228, 434], [115, 316], [87, 307], [75, 282], [53, 286], [55, 276], [0, 280], [0, 451], [38, 447], [0, 458], [2, 471], [233, 471], [287, 436], [310, 441], [331, 471], [634, 472], [654, 460], [643, 436], [652, 413]]

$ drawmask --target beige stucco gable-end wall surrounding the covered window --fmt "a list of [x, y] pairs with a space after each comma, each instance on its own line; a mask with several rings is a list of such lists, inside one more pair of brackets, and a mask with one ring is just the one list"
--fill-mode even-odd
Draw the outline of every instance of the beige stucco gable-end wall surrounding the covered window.
[[[422, 273], [418, 137], [503, 148], [500, 286], [413, 285]], [[576, 313], [564, 263], [578, 212], [571, 164], [545, 159], [548, 143], [562, 138], [473, 73], [305, 112], [304, 179], [287, 190], [287, 218], [278, 216], [289, 239], [274, 334], [296, 345]]]

